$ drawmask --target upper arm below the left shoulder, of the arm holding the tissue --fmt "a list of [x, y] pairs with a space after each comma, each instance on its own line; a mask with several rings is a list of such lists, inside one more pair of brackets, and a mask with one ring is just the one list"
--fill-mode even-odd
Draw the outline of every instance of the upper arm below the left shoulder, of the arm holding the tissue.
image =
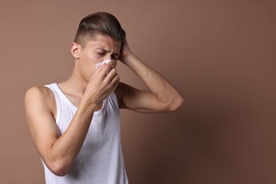
[[59, 130], [39, 88], [30, 88], [25, 94], [25, 117], [35, 146], [44, 157], [59, 137]]

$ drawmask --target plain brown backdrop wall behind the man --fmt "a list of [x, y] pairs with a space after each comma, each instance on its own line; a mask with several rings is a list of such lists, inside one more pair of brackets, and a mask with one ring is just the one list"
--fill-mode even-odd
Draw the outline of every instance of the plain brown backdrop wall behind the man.
[[122, 110], [130, 183], [276, 183], [275, 1], [1, 0], [0, 8], [0, 183], [44, 183], [24, 93], [67, 79], [77, 25], [95, 11], [117, 16], [132, 50], [185, 97], [176, 113]]

